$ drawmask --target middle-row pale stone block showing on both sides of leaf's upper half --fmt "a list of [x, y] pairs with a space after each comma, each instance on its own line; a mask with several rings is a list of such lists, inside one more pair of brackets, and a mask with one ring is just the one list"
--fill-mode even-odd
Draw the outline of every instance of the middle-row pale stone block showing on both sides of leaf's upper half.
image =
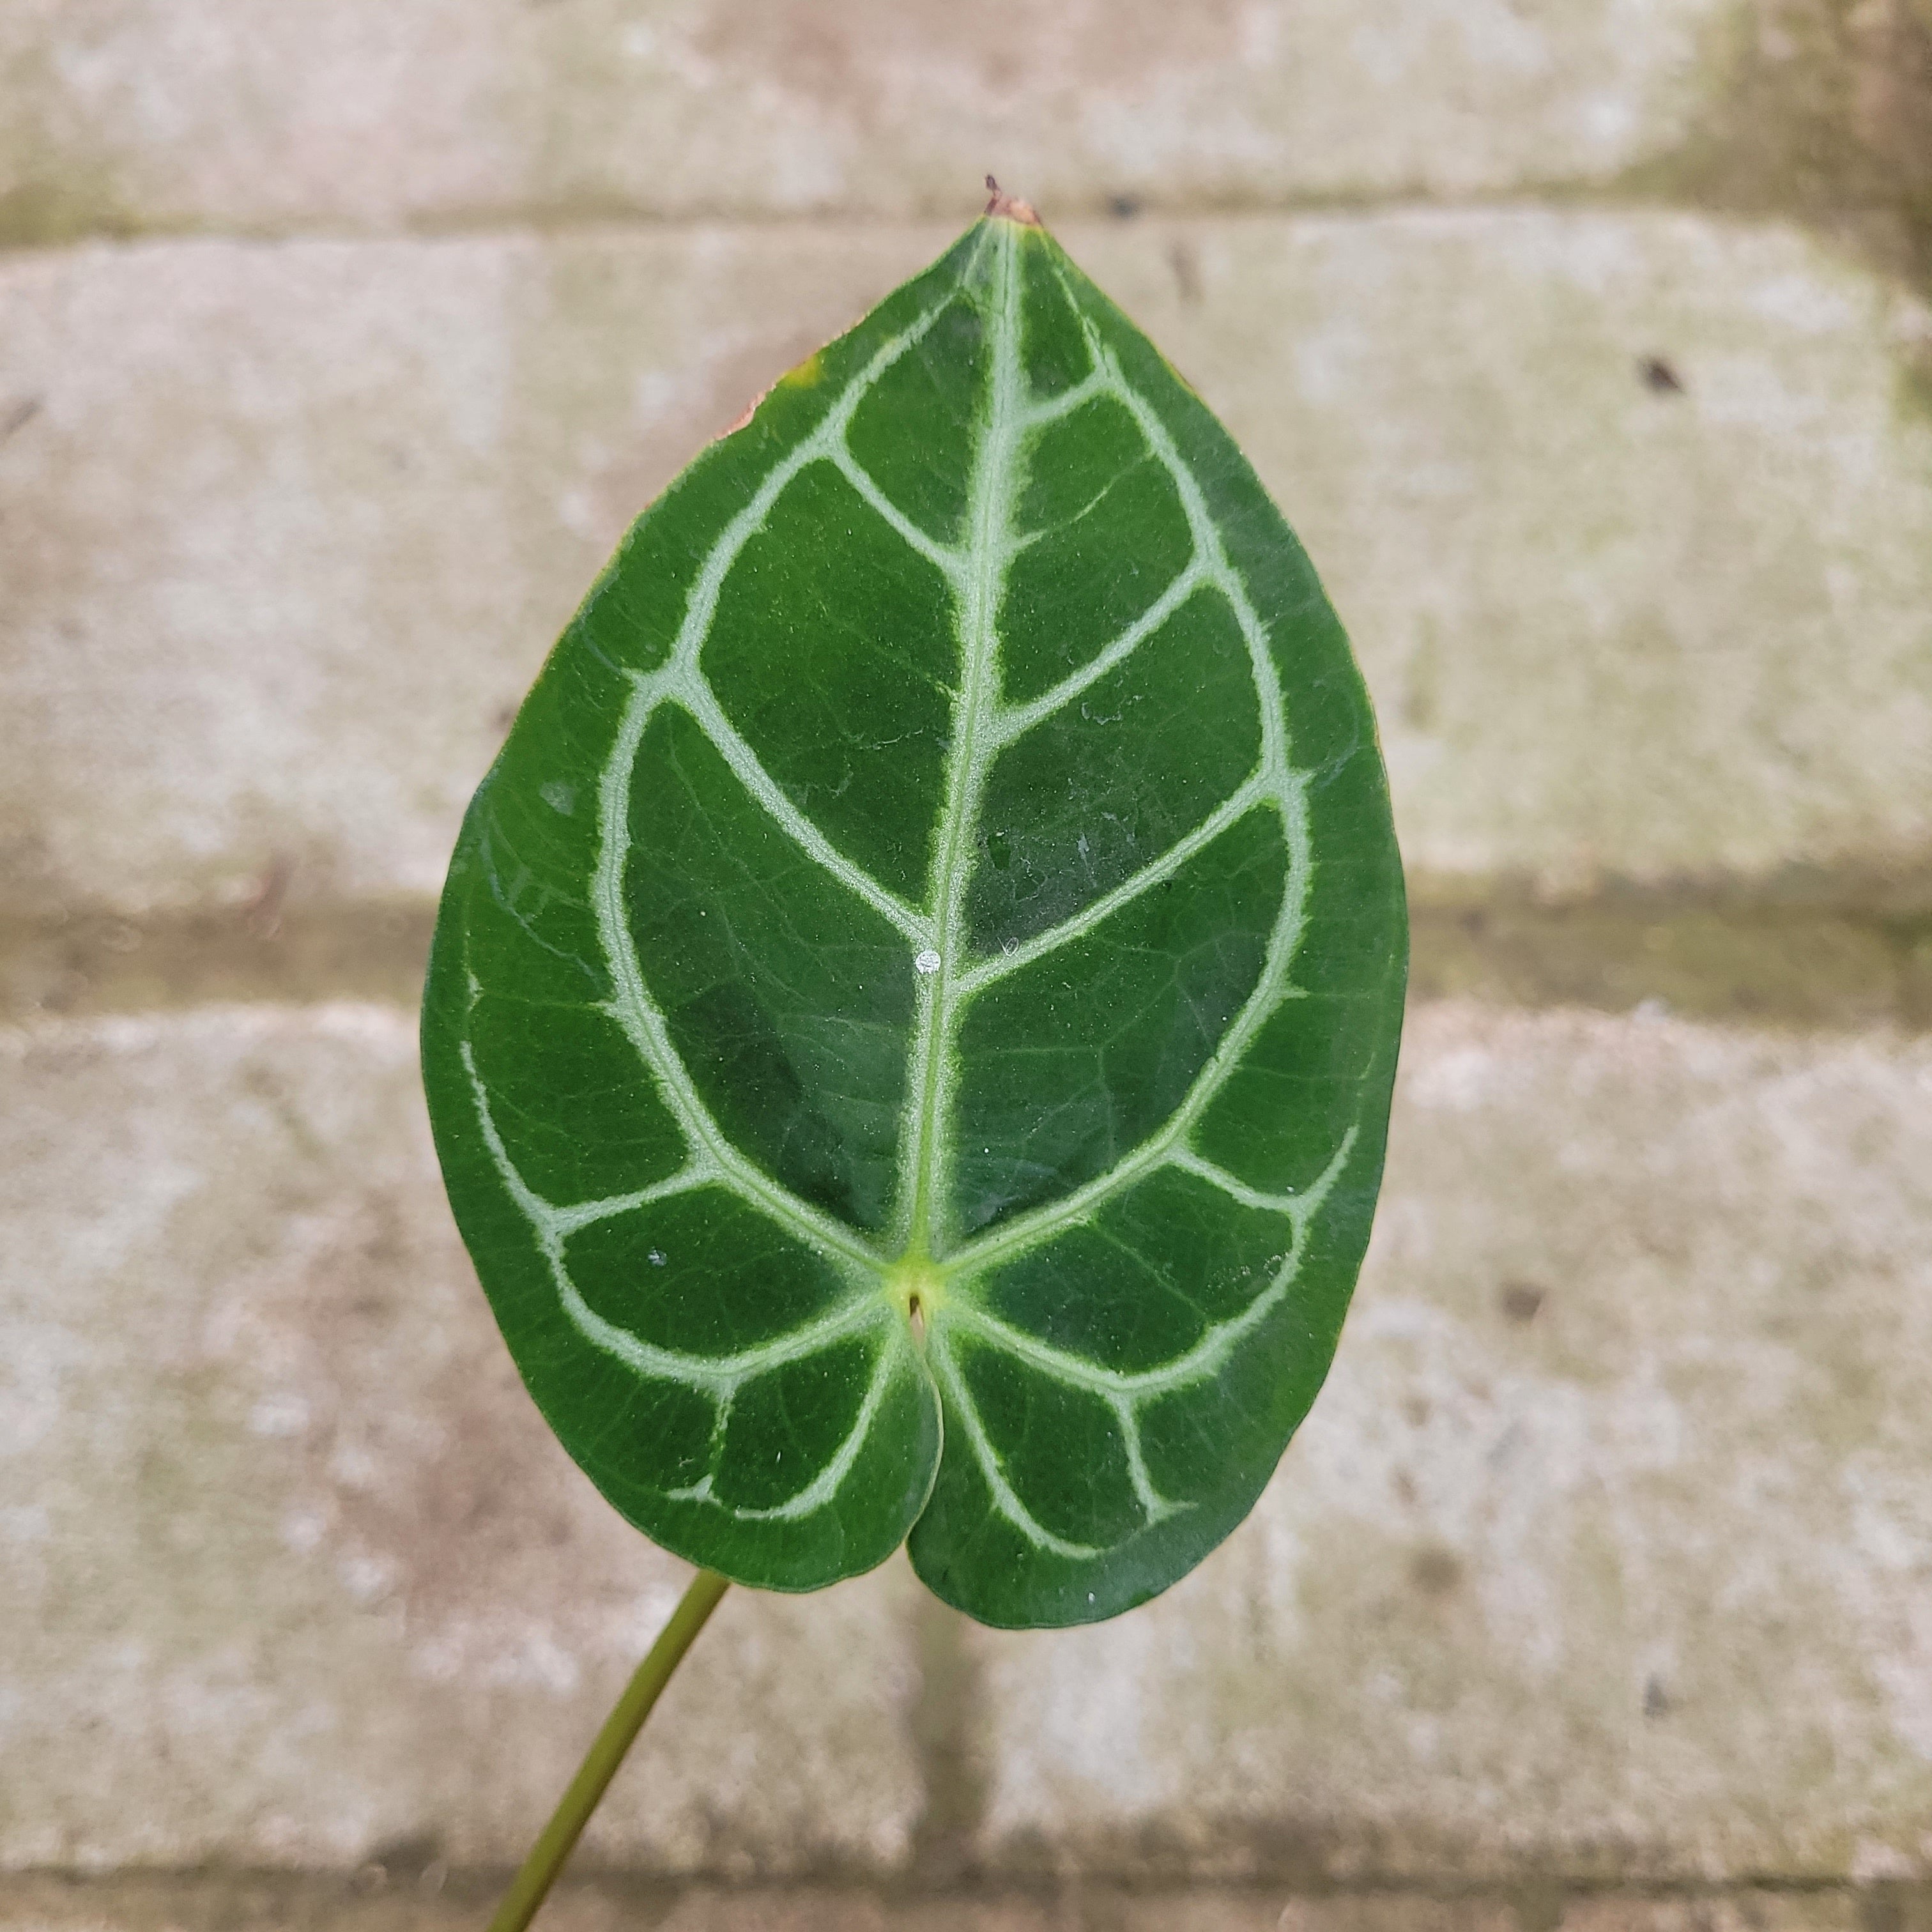
[[[0, 446], [0, 906], [435, 891], [502, 723], [634, 510], [945, 240], [703, 228], [0, 265], [19, 417]], [[1899, 357], [1932, 330], [1920, 305], [1791, 230], [1689, 216], [1066, 240], [1323, 568], [1424, 889], [1799, 873], [1918, 904], [1932, 417]], [[1654, 388], [1650, 355], [1683, 386]]]

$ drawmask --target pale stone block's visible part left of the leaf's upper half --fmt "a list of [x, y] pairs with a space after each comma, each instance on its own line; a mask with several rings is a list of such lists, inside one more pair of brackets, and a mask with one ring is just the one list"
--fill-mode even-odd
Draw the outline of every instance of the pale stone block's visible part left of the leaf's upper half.
[[435, 893], [630, 518], [922, 251], [701, 234], [0, 265], [0, 412], [37, 406], [0, 446], [0, 896]]

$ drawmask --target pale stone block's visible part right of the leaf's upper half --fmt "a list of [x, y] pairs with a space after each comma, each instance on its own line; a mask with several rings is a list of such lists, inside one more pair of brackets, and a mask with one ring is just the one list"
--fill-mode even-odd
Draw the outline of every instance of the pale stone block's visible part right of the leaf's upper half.
[[1920, 299], [1689, 214], [1080, 243], [1323, 572], [1424, 893], [1745, 879], [1932, 908]]

